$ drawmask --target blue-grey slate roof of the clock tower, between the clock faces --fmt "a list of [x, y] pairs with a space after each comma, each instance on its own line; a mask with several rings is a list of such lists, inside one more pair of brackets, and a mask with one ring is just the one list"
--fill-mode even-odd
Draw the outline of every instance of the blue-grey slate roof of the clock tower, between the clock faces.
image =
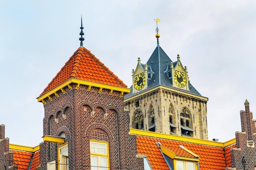
[[[170, 68], [171, 62], [173, 62], [173, 61], [168, 57], [168, 55], [164, 52], [164, 50], [158, 44], [157, 47], [155, 48], [154, 52], [152, 53], [152, 55], [150, 56], [150, 58], [147, 61], [148, 70], [150, 70], [150, 69], [152, 70], [153, 76], [151, 77], [151, 79], [148, 79], [148, 87], [146, 89], [142, 89], [138, 93], [144, 92], [148, 89], [152, 89], [153, 87], [156, 87], [158, 85], [162, 85], [162, 86], [170, 87], [173, 89], [178, 89], [180, 91], [195, 94], [198, 96], [202, 96], [193, 87], [193, 85], [191, 85], [190, 82], [188, 82], [189, 90], [177, 88], [172, 85], [172, 79], [168, 78], [168, 76], [166, 75], [166, 71], [168, 70], [168, 68]], [[176, 64], [177, 64], [177, 61], [173, 62], [174, 67]], [[145, 69], [145, 64], [141, 63], [141, 66], [142, 66], [142, 68]], [[126, 94], [125, 98], [128, 98], [130, 96], [138, 94], [138, 93], [132, 94], [133, 93], [132, 86], [130, 88], [131, 88], [131, 91], [129, 94]]]

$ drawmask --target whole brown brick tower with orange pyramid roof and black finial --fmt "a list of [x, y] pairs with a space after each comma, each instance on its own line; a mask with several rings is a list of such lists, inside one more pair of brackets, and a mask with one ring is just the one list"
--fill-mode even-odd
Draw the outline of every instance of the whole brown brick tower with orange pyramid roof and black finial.
[[[45, 108], [40, 170], [144, 169], [129, 135], [130, 89], [81, 46], [37, 98]], [[129, 162], [128, 162], [129, 160]]]

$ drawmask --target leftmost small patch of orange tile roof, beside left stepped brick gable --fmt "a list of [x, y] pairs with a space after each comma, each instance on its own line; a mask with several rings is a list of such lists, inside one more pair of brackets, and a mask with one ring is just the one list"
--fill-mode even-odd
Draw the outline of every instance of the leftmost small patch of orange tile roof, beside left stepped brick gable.
[[32, 153], [20, 151], [20, 150], [12, 150], [12, 151], [13, 151], [13, 163], [18, 165], [18, 170], [27, 170]]

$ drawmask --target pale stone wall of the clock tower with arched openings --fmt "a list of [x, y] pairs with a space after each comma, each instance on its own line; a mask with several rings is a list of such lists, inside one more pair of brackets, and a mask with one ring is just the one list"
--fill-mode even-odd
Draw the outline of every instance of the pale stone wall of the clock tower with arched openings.
[[[138, 101], [139, 106], [137, 107], [136, 102]], [[125, 109], [130, 112], [131, 128], [135, 128], [133, 124], [134, 114], [137, 110], [140, 110], [144, 116], [144, 130], [148, 130], [150, 126], [150, 105], [154, 108], [155, 132], [170, 134], [169, 115], [172, 115], [173, 124], [177, 126], [175, 133], [181, 135], [180, 113], [186, 107], [190, 112], [190, 128], [194, 130], [192, 137], [208, 139], [207, 101], [174, 93], [166, 89], [157, 89], [153, 92], [148, 92], [125, 102]], [[173, 113], [169, 109], [170, 105]]]

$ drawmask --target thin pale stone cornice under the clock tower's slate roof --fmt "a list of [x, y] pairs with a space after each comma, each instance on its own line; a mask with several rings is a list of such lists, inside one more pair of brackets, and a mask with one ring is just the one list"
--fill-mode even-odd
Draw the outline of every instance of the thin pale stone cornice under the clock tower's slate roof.
[[[158, 85], [158, 86], [156, 86], [156, 87], [154, 87], [154, 88], [152, 88], [152, 89], [147, 89], [146, 91], [141, 92], [141, 93], [138, 93], [138, 94], [139, 94], [140, 96], [143, 96], [143, 95], [148, 94], [149, 92], [155, 91], [155, 90], [157, 90], [157, 89], [165, 89], [165, 90], [169, 90], [169, 91], [172, 91], [172, 92], [175, 92], [175, 93], [179, 93], [179, 94], [183, 94], [183, 95], [187, 95], [187, 96], [191, 96], [191, 97], [194, 97], [194, 98], [199, 98], [199, 99], [201, 99], [201, 100], [208, 101], [208, 98], [207, 98], [207, 97], [199, 96], [199, 95], [192, 94], [192, 93], [189, 93], [189, 92], [183, 92], [183, 91], [180, 91], [180, 90], [178, 90], [178, 89], [173, 89], [173, 88], [171, 88], [171, 87], [166, 87], [166, 86], [162, 86], [162, 85]], [[126, 101], [128, 101], [128, 100], [133, 100], [133, 99], [135, 99], [135, 98], [137, 98], [137, 97], [138, 97], [138, 95], [135, 94], [134, 96], [130, 96], [130, 97], [126, 98], [126, 99], [124, 100], [124, 102], [126, 102]]]

